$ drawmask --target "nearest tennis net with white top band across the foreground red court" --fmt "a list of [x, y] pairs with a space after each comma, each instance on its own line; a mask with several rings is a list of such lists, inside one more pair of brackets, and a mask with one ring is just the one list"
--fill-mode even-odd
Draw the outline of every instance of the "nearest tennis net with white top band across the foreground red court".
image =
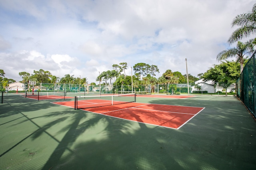
[[75, 96], [75, 110], [136, 102], [136, 94]]

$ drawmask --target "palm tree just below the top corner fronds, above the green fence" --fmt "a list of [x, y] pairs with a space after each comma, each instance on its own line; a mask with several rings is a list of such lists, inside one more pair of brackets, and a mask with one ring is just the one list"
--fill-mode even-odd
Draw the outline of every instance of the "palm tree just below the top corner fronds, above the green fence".
[[253, 53], [253, 41], [253, 39], [246, 41], [246, 43], [238, 41], [236, 47], [223, 50], [218, 53], [217, 60], [222, 61], [228, 58], [236, 57], [237, 62], [240, 63], [240, 73], [242, 73], [242, 70], [244, 68], [244, 60], [248, 57], [248, 55]]

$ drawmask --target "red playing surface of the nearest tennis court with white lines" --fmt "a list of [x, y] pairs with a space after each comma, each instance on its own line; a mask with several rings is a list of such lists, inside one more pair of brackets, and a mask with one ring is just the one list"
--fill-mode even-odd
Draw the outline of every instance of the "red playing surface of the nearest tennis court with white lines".
[[[90, 103], [91, 102], [92, 101], [90, 101]], [[96, 99], [94, 102], [100, 103], [102, 101], [98, 101]], [[74, 108], [74, 101], [54, 102], [53, 104]], [[90, 108], [85, 108], [82, 110], [150, 125], [180, 129], [180, 127], [185, 125], [203, 109], [204, 107], [143, 104], [132, 102], [102, 107], [94, 107], [91, 105]]]

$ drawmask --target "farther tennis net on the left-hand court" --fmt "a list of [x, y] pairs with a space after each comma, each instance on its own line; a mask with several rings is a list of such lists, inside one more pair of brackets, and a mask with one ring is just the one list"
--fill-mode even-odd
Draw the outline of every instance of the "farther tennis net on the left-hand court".
[[26, 98], [32, 98], [36, 100], [45, 99], [65, 99], [66, 92], [26, 92]]

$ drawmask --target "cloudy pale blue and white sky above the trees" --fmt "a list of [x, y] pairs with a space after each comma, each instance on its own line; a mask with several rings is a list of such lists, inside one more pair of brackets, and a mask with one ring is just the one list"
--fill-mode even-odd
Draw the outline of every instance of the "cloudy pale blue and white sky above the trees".
[[[232, 48], [232, 20], [255, 0], [0, 0], [0, 69], [43, 69], [96, 82], [99, 72], [126, 62], [197, 76]], [[242, 40], [243, 41], [243, 40]]]

